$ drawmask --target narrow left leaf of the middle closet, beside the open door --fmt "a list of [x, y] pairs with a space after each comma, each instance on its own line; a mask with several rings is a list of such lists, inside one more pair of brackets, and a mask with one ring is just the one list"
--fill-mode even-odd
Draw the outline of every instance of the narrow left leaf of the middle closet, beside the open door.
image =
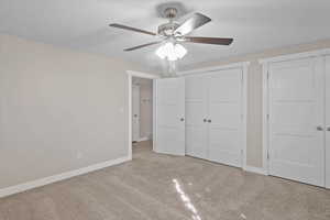
[[186, 77], [186, 154], [207, 158], [205, 76]]

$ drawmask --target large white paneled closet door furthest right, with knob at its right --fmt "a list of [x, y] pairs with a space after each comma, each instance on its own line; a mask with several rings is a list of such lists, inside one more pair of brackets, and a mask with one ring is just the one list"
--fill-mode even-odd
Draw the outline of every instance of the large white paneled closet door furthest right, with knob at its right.
[[270, 64], [268, 172], [324, 186], [322, 59]]

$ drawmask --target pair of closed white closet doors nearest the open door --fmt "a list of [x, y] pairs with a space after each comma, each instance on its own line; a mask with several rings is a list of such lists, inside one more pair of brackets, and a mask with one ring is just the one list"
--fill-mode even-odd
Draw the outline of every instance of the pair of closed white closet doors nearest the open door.
[[242, 69], [186, 77], [186, 153], [242, 167]]

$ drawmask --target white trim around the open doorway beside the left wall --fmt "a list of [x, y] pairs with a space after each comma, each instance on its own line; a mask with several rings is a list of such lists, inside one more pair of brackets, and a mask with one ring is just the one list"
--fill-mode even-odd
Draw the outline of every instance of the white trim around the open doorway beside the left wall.
[[[128, 147], [128, 158], [132, 160], [132, 78], [133, 77], [140, 77], [140, 78], [147, 78], [147, 79], [157, 79], [161, 78], [157, 75], [153, 74], [146, 74], [142, 72], [133, 72], [133, 70], [127, 70], [128, 77], [129, 77], [129, 147]], [[154, 105], [154, 101], [153, 101]], [[154, 107], [153, 107], [154, 109]], [[153, 111], [154, 112], [154, 111]], [[155, 119], [153, 113], [153, 128], [154, 128]], [[153, 135], [155, 135], [155, 132], [153, 132]]]

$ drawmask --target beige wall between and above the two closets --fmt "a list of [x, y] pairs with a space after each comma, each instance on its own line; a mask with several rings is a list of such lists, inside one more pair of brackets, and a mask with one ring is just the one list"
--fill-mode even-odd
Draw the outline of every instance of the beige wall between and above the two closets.
[[248, 78], [248, 165], [262, 167], [262, 66], [260, 58], [329, 48], [330, 40], [302, 45], [268, 50], [261, 53], [231, 57], [226, 61], [210, 62], [189, 66], [189, 69], [226, 65], [238, 62], [251, 62]]

